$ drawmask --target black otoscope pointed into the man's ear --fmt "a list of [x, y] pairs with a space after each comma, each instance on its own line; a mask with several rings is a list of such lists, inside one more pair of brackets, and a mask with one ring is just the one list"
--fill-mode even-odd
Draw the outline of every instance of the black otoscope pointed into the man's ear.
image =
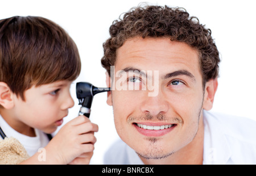
[[90, 107], [92, 106], [93, 96], [98, 93], [110, 91], [109, 87], [100, 88], [95, 87], [89, 82], [76, 83], [76, 97], [79, 99], [79, 104], [82, 104], [79, 115], [85, 115], [89, 118]]

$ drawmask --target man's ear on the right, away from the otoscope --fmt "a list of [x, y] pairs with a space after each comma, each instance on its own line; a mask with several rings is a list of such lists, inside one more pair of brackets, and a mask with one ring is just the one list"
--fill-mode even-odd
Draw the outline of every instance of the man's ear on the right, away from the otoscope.
[[210, 79], [210, 81], [208, 81], [205, 84], [204, 103], [203, 103], [204, 110], [209, 111], [212, 109], [213, 100], [214, 100], [215, 93], [217, 91], [217, 87], [218, 87], [217, 78]]

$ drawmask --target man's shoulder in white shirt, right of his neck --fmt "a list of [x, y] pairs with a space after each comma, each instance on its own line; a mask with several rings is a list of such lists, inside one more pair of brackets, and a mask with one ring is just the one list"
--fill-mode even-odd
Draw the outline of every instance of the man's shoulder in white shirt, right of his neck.
[[[256, 164], [255, 120], [204, 112], [204, 126], [205, 163]], [[214, 160], [210, 158], [209, 162], [209, 154], [213, 151]]]

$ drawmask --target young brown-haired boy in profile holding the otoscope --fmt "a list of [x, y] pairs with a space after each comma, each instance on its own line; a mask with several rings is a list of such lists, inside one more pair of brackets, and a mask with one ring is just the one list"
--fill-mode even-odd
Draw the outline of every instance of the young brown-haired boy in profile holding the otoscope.
[[0, 143], [14, 137], [24, 146], [30, 157], [20, 164], [89, 164], [98, 126], [88, 118], [69, 121], [51, 140], [46, 135], [73, 107], [69, 87], [80, 69], [76, 44], [57, 24], [0, 20]]

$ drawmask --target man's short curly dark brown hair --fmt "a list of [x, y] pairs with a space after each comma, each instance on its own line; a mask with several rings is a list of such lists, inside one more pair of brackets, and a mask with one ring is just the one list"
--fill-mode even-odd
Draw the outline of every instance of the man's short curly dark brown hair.
[[199, 23], [195, 16], [179, 7], [144, 6], [134, 7], [114, 20], [109, 28], [110, 38], [103, 44], [102, 66], [110, 76], [110, 66], [115, 64], [117, 49], [132, 37], [170, 37], [195, 48], [199, 53], [203, 84], [218, 76], [220, 62], [217, 47], [210, 29]]

